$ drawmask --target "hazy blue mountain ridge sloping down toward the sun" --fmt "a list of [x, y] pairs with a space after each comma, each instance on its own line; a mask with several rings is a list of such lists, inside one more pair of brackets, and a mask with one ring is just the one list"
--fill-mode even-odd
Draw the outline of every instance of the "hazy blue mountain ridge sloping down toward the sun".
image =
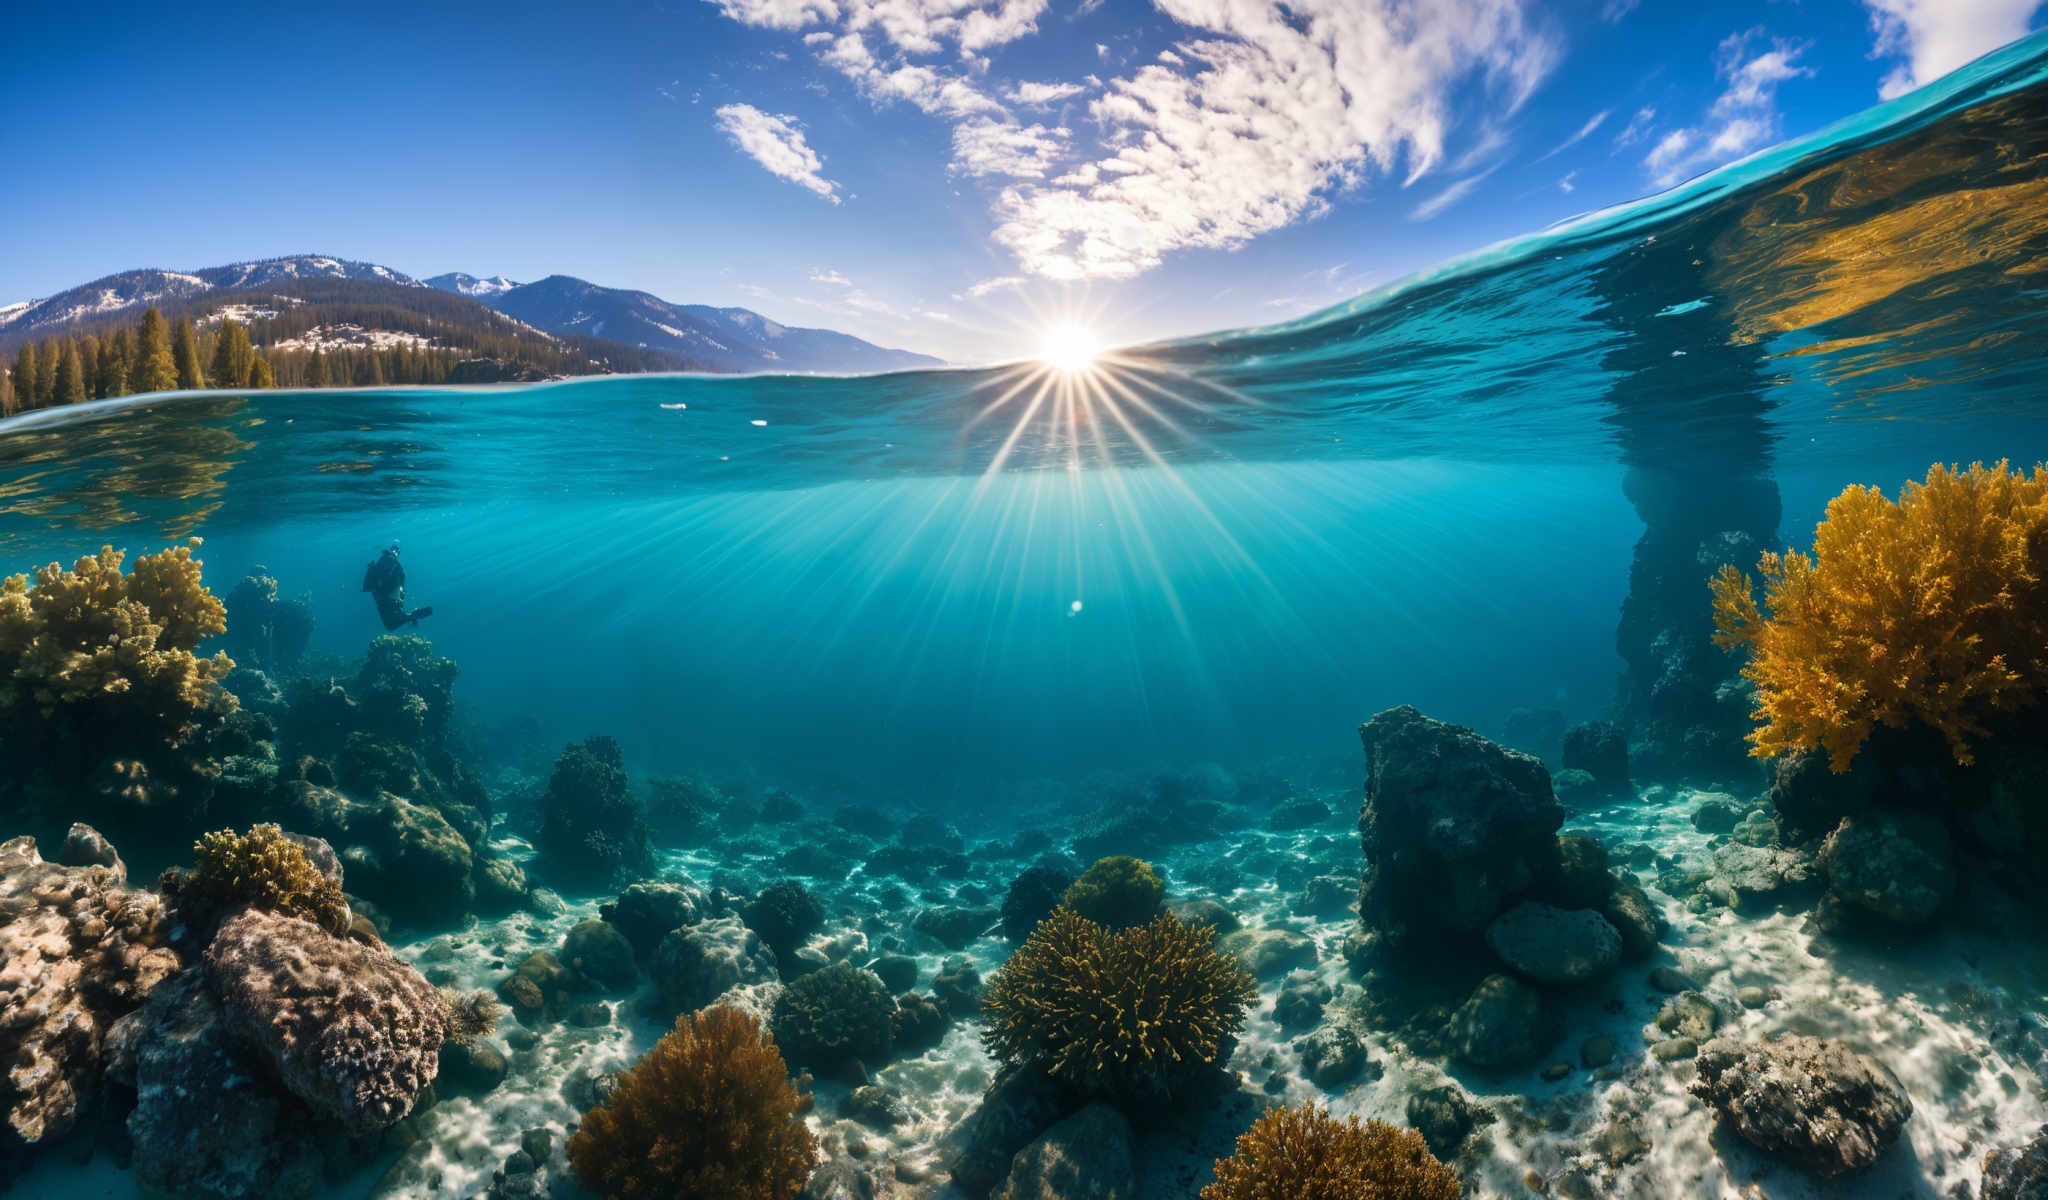
[[[436, 276], [428, 283], [455, 291]], [[467, 293], [551, 334], [584, 334], [649, 350], [670, 350], [711, 371], [901, 371], [940, 358], [891, 350], [836, 330], [782, 326], [752, 309], [678, 305], [645, 291], [598, 287], [551, 274], [500, 293]]]

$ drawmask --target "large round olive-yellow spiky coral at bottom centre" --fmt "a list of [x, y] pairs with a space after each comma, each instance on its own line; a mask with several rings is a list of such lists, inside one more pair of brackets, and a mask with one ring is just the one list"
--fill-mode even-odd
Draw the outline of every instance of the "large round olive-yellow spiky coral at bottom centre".
[[1202, 926], [1108, 930], [1061, 907], [989, 981], [981, 1040], [1092, 1096], [1163, 1098], [1229, 1057], [1255, 999]]

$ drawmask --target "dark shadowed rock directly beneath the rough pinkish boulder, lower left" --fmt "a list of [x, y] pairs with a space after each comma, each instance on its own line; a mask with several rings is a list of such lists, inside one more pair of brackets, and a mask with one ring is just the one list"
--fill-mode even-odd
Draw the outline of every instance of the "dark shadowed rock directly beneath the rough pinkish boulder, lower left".
[[313, 1130], [221, 1022], [197, 967], [121, 1028], [121, 1075], [135, 1087], [127, 1134], [145, 1194], [301, 1200], [322, 1186]]

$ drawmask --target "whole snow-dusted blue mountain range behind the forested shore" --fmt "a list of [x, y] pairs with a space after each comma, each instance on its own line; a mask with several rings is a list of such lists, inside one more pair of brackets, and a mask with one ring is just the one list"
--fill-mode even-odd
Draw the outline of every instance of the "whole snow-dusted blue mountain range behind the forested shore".
[[[471, 301], [430, 299], [436, 293]], [[0, 354], [29, 340], [84, 334], [129, 324], [147, 305], [195, 322], [236, 315], [262, 319], [279, 305], [334, 301], [338, 295], [399, 309], [408, 326], [432, 315], [469, 332], [516, 328], [590, 352], [592, 371], [788, 371], [868, 373], [940, 367], [940, 358], [893, 350], [842, 334], [772, 322], [737, 307], [680, 305], [645, 291], [600, 287], [567, 274], [537, 283], [465, 272], [418, 281], [356, 262], [301, 254], [233, 262], [203, 270], [125, 270], [57, 295], [0, 307]], [[451, 307], [453, 303], [453, 307]]]

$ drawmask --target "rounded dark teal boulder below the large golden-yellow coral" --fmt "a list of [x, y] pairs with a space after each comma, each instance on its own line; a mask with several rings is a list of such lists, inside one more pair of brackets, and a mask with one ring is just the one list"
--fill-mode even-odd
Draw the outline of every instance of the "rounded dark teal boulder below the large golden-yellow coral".
[[1923, 926], [1956, 893], [1956, 852], [1927, 813], [1876, 809], [1843, 817], [1821, 842], [1831, 901], [1898, 926]]

